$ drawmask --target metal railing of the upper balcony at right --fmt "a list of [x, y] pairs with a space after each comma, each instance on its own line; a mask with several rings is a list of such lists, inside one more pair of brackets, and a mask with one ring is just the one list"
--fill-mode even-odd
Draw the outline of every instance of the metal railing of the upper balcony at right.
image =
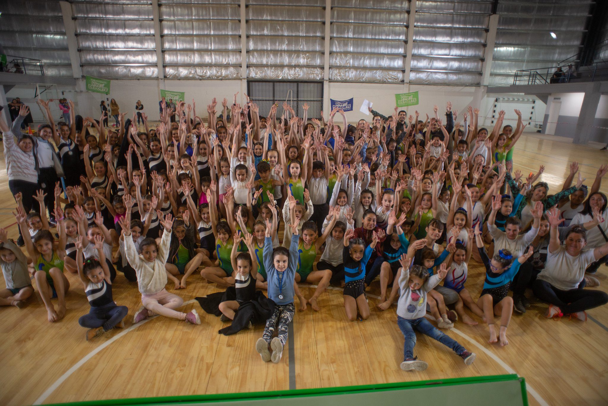
[[[558, 69], [565, 68], [565, 71]], [[545, 85], [548, 83], [595, 82], [608, 80], [608, 62], [597, 61], [589, 66], [549, 66], [515, 72], [513, 85]]]

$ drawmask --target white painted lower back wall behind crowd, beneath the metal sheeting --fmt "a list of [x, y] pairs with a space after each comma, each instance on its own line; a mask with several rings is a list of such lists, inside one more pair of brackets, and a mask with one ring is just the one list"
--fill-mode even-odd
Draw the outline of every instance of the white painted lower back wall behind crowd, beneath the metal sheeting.
[[[157, 117], [158, 102], [160, 100], [159, 89], [162, 85], [159, 85], [158, 80], [112, 80], [111, 92], [108, 96], [98, 93], [89, 93], [85, 91], [76, 91], [76, 88], [81, 89], [83, 84], [74, 86], [62, 86], [58, 85], [58, 90], [64, 91], [64, 97], [74, 100], [77, 105], [77, 112], [82, 116], [92, 116], [98, 119], [100, 115], [99, 103], [100, 100], [106, 100], [106, 105], [109, 103], [109, 99], [116, 99], [120, 105], [121, 111], [128, 111], [129, 116], [133, 115], [134, 105], [137, 100], [141, 100], [145, 110], [150, 117]], [[243, 92], [241, 91], [241, 80], [165, 80], [164, 88], [173, 91], [184, 91], [188, 102], [192, 102], [195, 99], [196, 112], [201, 117], [207, 116], [207, 105], [212, 102], [213, 97], [224, 96], [232, 102], [233, 94], [240, 92], [238, 100], [241, 101]], [[35, 103], [33, 99], [35, 85], [21, 85], [15, 86], [7, 93], [7, 97], [21, 97], [30, 106]], [[469, 104], [475, 100], [476, 93], [480, 91], [479, 88], [472, 86], [427, 86], [427, 85], [390, 85], [390, 84], [374, 84], [374, 83], [329, 83], [328, 93], [331, 99], [345, 100], [354, 97], [354, 110], [347, 112], [347, 119], [349, 122], [356, 122], [359, 119], [366, 118], [371, 119], [370, 116], [359, 111], [361, 103], [364, 99], [368, 99], [373, 103], [373, 109], [381, 112], [382, 114], [391, 114], [395, 108], [395, 94], [418, 91], [420, 97], [420, 104], [416, 106], [410, 106], [403, 108], [408, 114], [413, 114], [415, 110], [420, 111], [421, 119], [424, 119], [424, 114], [432, 114], [433, 106], [437, 104], [439, 108], [440, 117], [443, 116], [446, 102], [451, 101], [454, 105], [454, 110], [458, 110], [457, 121], [462, 121], [463, 113]], [[60, 94], [61, 96], [61, 94]], [[480, 121], [479, 124], [485, 127], [491, 127], [491, 116], [494, 106], [495, 97], [525, 97], [534, 98], [533, 96], [523, 96], [518, 94], [505, 95], [505, 94], [488, 94], [480, 103]], [[30, 98], [29, 98], [30, 97]], [[24, 99], [25, 98], [25, 99]], [[218, 105], [221, 107], [221, 99], [218, 99]], [[604, 105], [608, 110], [608, 99], [603, 99]], [[582, 102], [582, 99], [581, 99]], [[499, 108], [505, 108], [509, 110], [506, 116], [505, 124], [514, 125], [516, 119], [514, 117], [513, 108], [519, 108], [522, 110], [522, 106], [508, 103], [508, 106], [504, 107], [501, 105]], [[542, 122], [544, 116], [545, 105], [540, 100], [536, 103], [536, 120]], [[578, 107], [580, 110], [580, 106]], [[33, 118], [36, 122], [42, 121], [43, 117], [37, 108], [32, 108]], [[399, 109], [401, 110], [401, 109]], [[598, 108], [598, 111], [600, 109]], [[524, 110], [522, 110], [524, 111]], [[578, 113], [577, 113], [578, 114]], [[57, 108], [57, 113], [54, 110], [54, 116], [60, 115]], [[513, 117], [511, 117], [513, 116]], [[56, 117], [56, 118], [57, 118]], [[606, 111], [606, 117], [608, 117], [608, 111]], [[113, 122], [112, 117], [109, 119], [110, 124]]]

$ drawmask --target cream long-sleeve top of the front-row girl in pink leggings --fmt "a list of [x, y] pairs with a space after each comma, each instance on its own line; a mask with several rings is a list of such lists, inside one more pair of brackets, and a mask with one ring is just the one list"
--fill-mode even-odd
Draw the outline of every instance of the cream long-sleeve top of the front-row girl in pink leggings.
[[171, 243], [171, 231], [162, 233], [161, 245], [158, 247], [158, 254], [153, 262], [148, 262], [142, 256], [137, 254], [135, 244], [133, 243], [133, 234], [125, 236], [126, 259], [135, 270], [137, 275], [137, 287], [142, 295], [154, 295], [165, 289], [167, 284], [167, 273], [165, 272], [165, 264], [169, 254], [169, 245]]

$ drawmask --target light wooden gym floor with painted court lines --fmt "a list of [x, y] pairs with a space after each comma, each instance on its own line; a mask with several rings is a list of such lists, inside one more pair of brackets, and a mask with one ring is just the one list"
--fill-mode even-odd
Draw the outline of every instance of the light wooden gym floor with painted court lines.
[[[561, 189], [568, 164], [579, 162], [582, 175], [591, 184], [607, 153], [589, 147], [524, 136], [516, 147], [515, 169], [536, 172], [546, 169], [541, 180], [550, 193]], [[0, 158], [0, 226], [9, 237], [18, 236], [11, 214], [15, 201], [6, 180], [4, 158]], [[608, 191], [604, 179], [602, 191]], [[185, 290], [169, 292], [184, 298], [184, 311], [195, 308], [201, 326], [157, 317], [131, 326], [140, 306], [134, 283], [119, 272], [113, 285], [114, 299], [129, 307], [126, 329], [109, 337], [85, 340], [78, 317], [89, 310], [83, 288], [75, 275], [66, 273], [72, 288], [67, 293], [66, 317], [49, 323], [35, 293], [23, 309], [0, 309], [0, 405], [29, 405], [54, 402], [92, 401], [143, 396], [234, 393], [262, 390], [362, 385], [368, 383], [441, 379], [517, 373], [528, 383], [531, 405], [608, 404], [608, 307], [589, 311], [589, 321], [548, 320], [547, 305], [532, 299], [528, 312], [514, 315], [508, 329], [509, 345], [488, 344], [484, 324], [466, 326], [457, 322], [446, 332], [477, 360], [465, 366], [450, 349], [418, 335], [415, 355], [429, 363], [424, 372], [404, 372], [403, 337], [396, 324], [396, 307], [376, 310], [378, 282], [368, 292], [371, 316], [349, 322], [342, 292], [330, 289], [320, 296], [320, 312], [308, 307], [297, 312], [288, 345], [280, 363], [264, 363], [254, 343], [263, 326], [255, 326], [229, 337], [218, 335], [223, 323], [207, 315], [193, 301], [196, 296], [218, 292], [195, 273]], [[474, 297], [482, 289], [484, 270], [469, 266], [467, 286]], [[607, 268], [601, 267], [599, 289], [608, 287]], [[4, 286], [4, 281], [0, 281]], [[309, 298], [313, 288], [302, 285]], [[377, 297], [377, 296], [376, 296]], [[528, 297], [531, 292], [528, 291]], [[471, 313], [469, 313], [471, 314]], [[481, 320], [478, 320], [481, 322]]]

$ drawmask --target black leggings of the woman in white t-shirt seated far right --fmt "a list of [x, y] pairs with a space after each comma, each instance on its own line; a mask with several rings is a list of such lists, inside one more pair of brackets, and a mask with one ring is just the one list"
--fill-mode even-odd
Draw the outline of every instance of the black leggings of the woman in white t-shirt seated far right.
[[608, 294], [601, 290], [561, 290], [541, 279], [534, 281], [533, 290], [537, 298], [558, 306], [564, 314], [582, 312], [608, 303]]

